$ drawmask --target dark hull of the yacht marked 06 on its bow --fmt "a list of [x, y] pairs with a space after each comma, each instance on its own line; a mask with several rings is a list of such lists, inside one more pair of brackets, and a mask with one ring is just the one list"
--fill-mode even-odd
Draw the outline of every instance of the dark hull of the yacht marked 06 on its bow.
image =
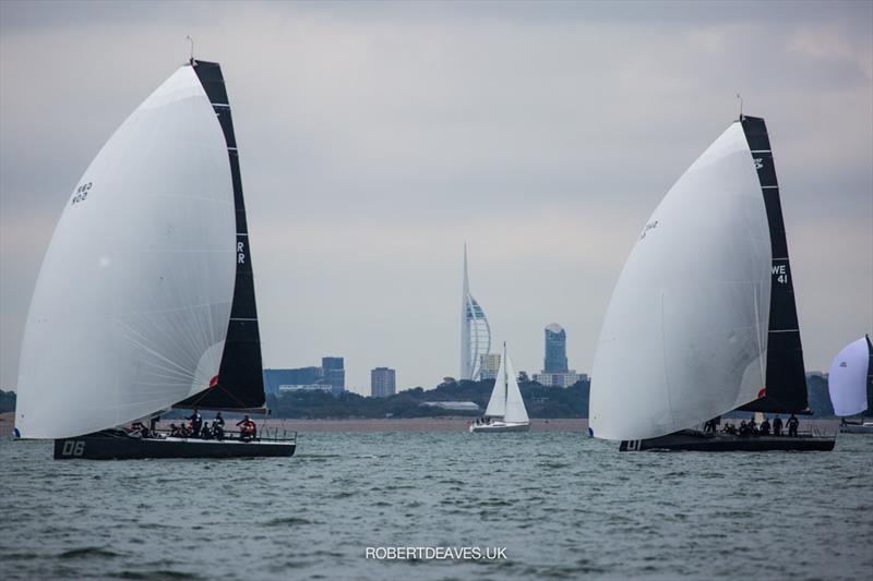
[[56, 460], [142, 460], [146, 458], [287, 458], [295, 441], [140, 439], [100, 435], [55, 440]]

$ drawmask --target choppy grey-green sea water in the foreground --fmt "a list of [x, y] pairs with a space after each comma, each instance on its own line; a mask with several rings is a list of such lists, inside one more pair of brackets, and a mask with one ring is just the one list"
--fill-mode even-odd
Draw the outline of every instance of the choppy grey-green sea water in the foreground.
[[[873, 437], [618, 453], [572, 433], [302, 434], [284, 460], [64, 461], [0, 443], [0, 577], [870, 579]], [[374, 561], [367, 546], [506, 547]]]

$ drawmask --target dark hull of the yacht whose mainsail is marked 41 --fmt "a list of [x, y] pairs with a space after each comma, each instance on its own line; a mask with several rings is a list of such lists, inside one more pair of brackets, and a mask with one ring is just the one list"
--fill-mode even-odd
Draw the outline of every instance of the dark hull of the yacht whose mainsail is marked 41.
[[622, 440], [619, 451], [677, 450], [698, 452], [830, 451], [833, 436], [731, 436], [683, 431], [657, 438]]

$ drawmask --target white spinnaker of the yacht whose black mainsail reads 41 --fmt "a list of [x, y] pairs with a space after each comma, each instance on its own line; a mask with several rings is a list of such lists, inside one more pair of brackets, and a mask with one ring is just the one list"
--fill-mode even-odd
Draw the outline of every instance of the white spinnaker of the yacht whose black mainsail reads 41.
[[737, 122], [670, 189], [615, 283], [591, 373], [596, 437], [662, 436], [757, 398], [772, 258]]

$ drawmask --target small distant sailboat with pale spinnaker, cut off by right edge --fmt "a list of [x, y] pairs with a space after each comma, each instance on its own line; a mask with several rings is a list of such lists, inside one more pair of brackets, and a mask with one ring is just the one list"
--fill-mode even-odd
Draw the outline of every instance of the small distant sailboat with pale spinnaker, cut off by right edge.
[[837, 353], [827, 376], [827, 388], [834, 413], [842, 417], [840, 433], [873, 434], [873, 422], [846, 420], [849, 415], [873, 415], [873, 344], [870, 336], [852, 341]]

